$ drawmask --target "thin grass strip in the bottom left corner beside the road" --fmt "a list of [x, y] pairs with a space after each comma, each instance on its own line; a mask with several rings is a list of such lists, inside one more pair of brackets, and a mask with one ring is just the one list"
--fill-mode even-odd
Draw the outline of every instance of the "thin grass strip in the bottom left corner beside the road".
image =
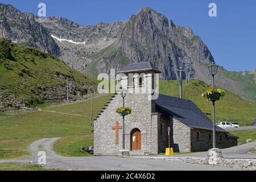
[[0, 163], [0, 171], [56, 171], [57, 169], [46, 169], [35, 164], [22, 163]]

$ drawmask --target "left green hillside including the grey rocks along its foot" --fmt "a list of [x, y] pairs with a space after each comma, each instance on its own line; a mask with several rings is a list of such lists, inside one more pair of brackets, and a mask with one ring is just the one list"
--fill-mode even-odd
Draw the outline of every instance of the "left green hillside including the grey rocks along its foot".
[[70, 100], [86, 98], [97, 90], [94, 80], [57, 57], [0, 38], [0, 112], [63, 102], [66, 79], [72, 81]]

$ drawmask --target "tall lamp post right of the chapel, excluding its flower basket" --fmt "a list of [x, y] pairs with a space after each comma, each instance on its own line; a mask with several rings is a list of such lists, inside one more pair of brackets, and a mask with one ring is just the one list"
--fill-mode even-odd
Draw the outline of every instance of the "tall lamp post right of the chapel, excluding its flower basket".
[[[218, 71], [218, 66], [216, 64], [212, 64], [208, 67], [209, 73], [210, 75], [212, 75], [212, 89], [214, 90], [214, 76], [217, 74]], [[215, 126], [215, 101], [212, 101], [212, 123], [213, 123], [213, 127], [212, 127], [212, 146], [213, 148], [216, 148], [216, 126]]]

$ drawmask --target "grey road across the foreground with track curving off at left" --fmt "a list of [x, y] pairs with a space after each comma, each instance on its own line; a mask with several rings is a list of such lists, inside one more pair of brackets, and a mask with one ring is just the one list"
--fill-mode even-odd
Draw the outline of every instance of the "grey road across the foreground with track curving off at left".
[[[118, 158], [117, 156], [92, 156], [92, 157], [64, 157], [57, 155], [52, 151], [52, 144], [59, 138], [40, 139], [30, 146], [32, 152], [32, 159], [16, 161], [16, 162], [28, 162], [33, 160], [33, 163], [37, 162], [38, 151], [43, 150], [47, 154], [47, 168], [60, 168], [60, 169], [72, 169], [72, 170], [201, 170], [201, 171], [214, 171], [214, 170], [236, 170], [228, 167], [210, 166], [203, 164], [188, 164], [188, 163], [175, 163], [162, 160], [151, 159], [133, 159], [133, 158]], [[39, 147], [40, 146], [40, 147]], [[11, 161], [9, 161], [11, 162]]]

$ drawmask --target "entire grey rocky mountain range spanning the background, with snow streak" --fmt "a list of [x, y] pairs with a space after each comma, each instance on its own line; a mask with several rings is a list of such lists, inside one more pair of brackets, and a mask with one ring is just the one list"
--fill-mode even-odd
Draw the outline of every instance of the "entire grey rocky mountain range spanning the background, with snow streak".
[[[0, 10], [9, 14], [18, 12], [19, 17], [30, 15], [31, 21], [40, 27], [39, 30], [46, 31], [44, 38], [35, 39], [36, 43], [30, 46], [40, 48], [44, 52], [55, 50], [52, 53], [69, 65], [72, 47], [73, 68], [85, 75], [97, 76], [98, 73], [109, 73], [111, 68], [120, 70], [129, 63], [150, 61], [162, 71], [160, 78], [174, 80], [179, 77], [174, 70], [175, 65], [190, 60], [193, 79], [207, 84], [210, 84], [212, 79], [207, 67], [214, 63], [214, 58], [203, 40], [195, 35], [191, 28], [177, 26], [171, 19], [149, 7], [142, 8], [127, 20], [111, 24], [100, 22], [94, 26], [82, 26], [60, 17], [40, 18], [20, 13], [10, 5], [1, 4]], [[12, 27], [12, 33], [0, 34], [4, 38], [22, 44], [27, 36], [42, 36], [38, 31], [32, 31], [27, 25], [29, 23], [24, 26], [26, 31], [19, 32], [19, 23], [11, 23], [14, 22], [12, 14], [1, 16], [6, 20], [5, 24], [0, 25], [0, 32], [6, 32], [8, 27]], [[20, 35], [19, 38], [16, 38], [16, 35]], [[46, 40], [51, 40], [51, 43], [40, 43]], [[53, 44], [55, 49], [50, 48]], [[246, 100], [256, 101], [255, 72], [249, 72], [249, 80], [241, 82], [241, 74], [232, 74], [224, 68], [220, 70], [216, 76], [217, 86], [228, 89]]]

